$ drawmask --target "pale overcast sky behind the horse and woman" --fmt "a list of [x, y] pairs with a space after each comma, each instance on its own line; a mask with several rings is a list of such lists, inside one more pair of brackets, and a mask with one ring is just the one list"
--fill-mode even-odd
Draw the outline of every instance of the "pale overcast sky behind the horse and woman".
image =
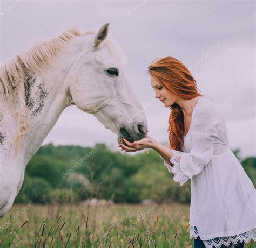
[[[255, 155], [254, 1], [1, 1], [1, 63], [70, 25], [81, 31], [110, 22], [127, 55], [127, 74], [142, 104], [154, 99], [147, 66], [173, 56], [190, 68], [198, 89], [224, 116], [231, 149]], [[168, 141], [169, 108], [146, 108], [149, 135]], [[94, 116], [66, 108], [43, 144], [117, 149], [117, 137]]]

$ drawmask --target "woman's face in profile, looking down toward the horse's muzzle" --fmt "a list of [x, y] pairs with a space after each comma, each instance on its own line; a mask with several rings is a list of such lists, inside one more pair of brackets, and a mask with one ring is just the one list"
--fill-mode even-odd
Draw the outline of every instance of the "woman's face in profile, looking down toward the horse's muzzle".
[[177, 101], [177, 95], [172, 94], [169, 90], [163, 87], [154, 76], [151, 76], [151, 86], [156, 92], [156, 99], [159, 99], [164, 103], [166, 108]]

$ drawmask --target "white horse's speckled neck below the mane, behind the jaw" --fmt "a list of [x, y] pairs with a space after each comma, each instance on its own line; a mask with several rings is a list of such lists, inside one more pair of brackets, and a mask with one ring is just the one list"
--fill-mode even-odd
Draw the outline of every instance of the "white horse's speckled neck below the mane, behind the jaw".
[[[0, 157], [5, 163], [12, 163], [24, 169], [33, 154], [42, 145], [44, 139], [56, 124], [60, 114], [70, 103], [70, 97], [62, 81], [61, 69], [49, 70], [42, 75], [26, 73], [25, 101], [26, 111], [30, 123], [30, 132], [21, 140], [17, 157], [14, 156], [14, 140], [17, 129], [11, 130], [7, 126], [17, 127], [17, 117], [9, 116], [5, 123], [6, 140], [4, 141]], [[11, 109], [8, 109], [10, 113]], [[10, 115], [8, 113], [8, 115]], [[6, 116], [6, 115], [5, 115]], [[2, 163], [1, 163], [2, 164]], [[19, 164], [19, 165], [18, 165]]]

